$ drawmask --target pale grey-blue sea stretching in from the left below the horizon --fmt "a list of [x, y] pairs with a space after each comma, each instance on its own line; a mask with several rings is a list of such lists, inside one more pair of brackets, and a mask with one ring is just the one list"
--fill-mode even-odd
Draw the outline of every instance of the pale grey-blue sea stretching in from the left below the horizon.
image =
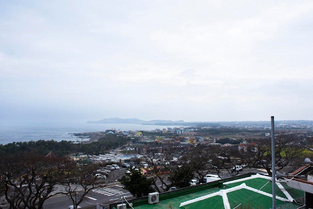
[[0, 144], [28, 142], [38, 140], [73, 141], [89, 140], [75, 137], [73, 133], [96, 132], [105, 130], [135, 131], [155, 130], [175, 126], [141, 125], [141, 124], [96, 124], [75, 123], [5, 123], [0, 122]]

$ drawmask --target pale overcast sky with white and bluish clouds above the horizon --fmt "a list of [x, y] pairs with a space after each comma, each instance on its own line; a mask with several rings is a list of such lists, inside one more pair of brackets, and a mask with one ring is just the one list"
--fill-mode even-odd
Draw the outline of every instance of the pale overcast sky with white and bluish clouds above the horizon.
[[313, 1], [1, 1], [0, 121], [313, 120]]

